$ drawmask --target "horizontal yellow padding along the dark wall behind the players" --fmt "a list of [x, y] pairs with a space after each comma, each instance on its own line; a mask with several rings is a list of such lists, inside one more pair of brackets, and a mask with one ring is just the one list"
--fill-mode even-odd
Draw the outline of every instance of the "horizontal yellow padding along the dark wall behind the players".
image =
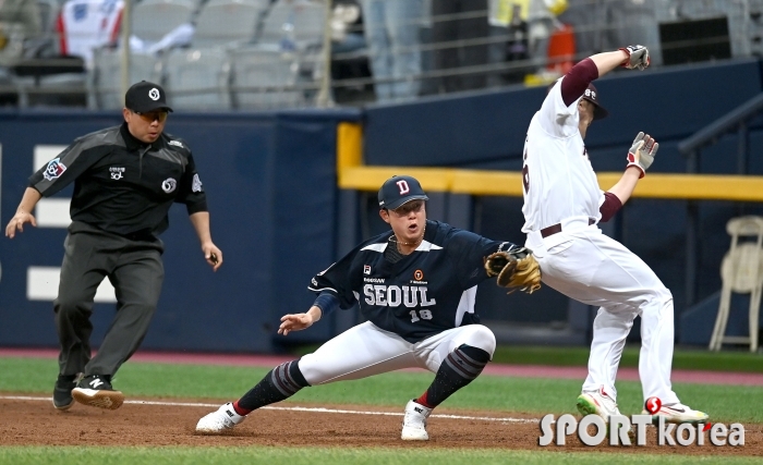
[[[470, 195], [522, 195], [522, 173], [517, 171], [463, 170], [421, 167], [363, 167], [339, 170], [339, 187], [376, 192], [395, 174], [416, 178], [425, 191]], [[622, 173], [597, 173], [598, 185], [607, 191]], [[763, 201], [763, 176], [724, 174], [647, 173], [639, 181], [633, 197], [663, 199]]]

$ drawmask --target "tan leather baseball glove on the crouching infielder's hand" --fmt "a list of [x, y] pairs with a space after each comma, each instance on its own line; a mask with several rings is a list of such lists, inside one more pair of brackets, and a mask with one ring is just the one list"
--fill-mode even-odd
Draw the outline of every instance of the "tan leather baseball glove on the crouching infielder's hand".
[[518, 289], [528, 294], [541, 289], [541, 267], [526, 247], [491, 254], [485, 259], [485, 271], [488, 277], [498, 277], [496, 283], [508, 287], [509, 294]]

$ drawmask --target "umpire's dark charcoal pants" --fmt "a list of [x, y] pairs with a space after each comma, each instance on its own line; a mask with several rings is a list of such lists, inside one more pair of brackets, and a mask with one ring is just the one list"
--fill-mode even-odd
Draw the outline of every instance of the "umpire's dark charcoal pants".
[[[113, 375], [148, 331], [165, 279], [164, 244], [158, 238], [128, 238], [74, 221], [64, 250], [53, 302], [61, 343], [59, 372]], [[90, 359], [93, 299], [105, 277], [117, 291], [117, 315]]]

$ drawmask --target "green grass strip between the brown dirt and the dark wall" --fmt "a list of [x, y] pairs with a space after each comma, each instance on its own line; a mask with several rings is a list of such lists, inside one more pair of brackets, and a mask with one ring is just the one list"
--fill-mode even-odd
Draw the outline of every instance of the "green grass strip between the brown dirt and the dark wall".
[[[268, 371], [267, 368], [173, 365], [131, 362], [114, 378], [114, 387], [133, 397], [195, 397], [231, 401], [240, 397]], [[0, 391], [49, 395], [57, 363], [40, 358], [0, 358]], [[433, 375], [393, 372], [356, 381], [303, 389], [289, 402], [402, 406], [420, 395]], [[481, 376], [444, 404], [448, 407], [531, 414], [574, 413], [581, 380]], [[708, 412], [716, 421], [763, 423], [763, 388], [676, 383], [681, 401]], [[641, 384], [617, 383], [620, 411], [640, 413]], [[743, 400], [743, 401], [742, 401]]]

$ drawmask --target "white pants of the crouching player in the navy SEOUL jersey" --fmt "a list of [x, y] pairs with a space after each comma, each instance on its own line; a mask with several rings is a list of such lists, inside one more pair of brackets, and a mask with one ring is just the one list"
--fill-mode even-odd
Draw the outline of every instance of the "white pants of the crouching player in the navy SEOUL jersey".
[[482, 348], [491, 354], [491, 358], [496, 348], [493, 331], [482, 325], [449, 329], [412, 344], [366, 321], [302, 357], [300, 370], [311, 386], [361, 379], [402, 368], [437, 372], [448, 354], [461, 344]]

